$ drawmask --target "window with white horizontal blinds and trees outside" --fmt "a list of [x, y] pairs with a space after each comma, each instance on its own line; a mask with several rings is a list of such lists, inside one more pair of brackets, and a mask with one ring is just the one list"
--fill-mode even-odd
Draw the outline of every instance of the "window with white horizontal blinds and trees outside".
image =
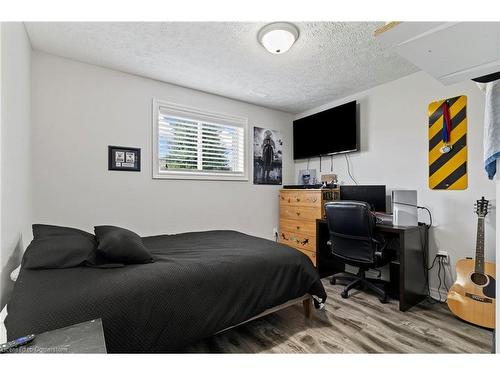
[[153, 178], [247, 180], [246, 119], [153, 105]]

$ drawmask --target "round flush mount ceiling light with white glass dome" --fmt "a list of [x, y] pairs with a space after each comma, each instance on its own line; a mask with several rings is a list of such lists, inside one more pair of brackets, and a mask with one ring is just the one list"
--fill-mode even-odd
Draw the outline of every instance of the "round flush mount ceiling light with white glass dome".
[[292, 47], [299, 37], [299, 30], [291, 23], [275, 22], [264, 26], [257, 38], [269, 52], [279, 55]]

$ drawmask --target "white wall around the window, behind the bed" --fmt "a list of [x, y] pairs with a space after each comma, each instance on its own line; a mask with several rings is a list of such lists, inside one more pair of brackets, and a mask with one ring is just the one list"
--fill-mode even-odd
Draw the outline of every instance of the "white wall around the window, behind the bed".
[[[251, 177], [152, 179], [152, 98], [246, 117], [250, 130], [280, 130], [285, 183], [294, 174], [290, 114], [40, 52], [32, 66], [35, 222], [89, 231], [115, 224], [141, 235], [235, 229], [273, 237], [278, 186], [253, 185]], [[108, 171], [108, 145], [140, 147], [142, 171]]]

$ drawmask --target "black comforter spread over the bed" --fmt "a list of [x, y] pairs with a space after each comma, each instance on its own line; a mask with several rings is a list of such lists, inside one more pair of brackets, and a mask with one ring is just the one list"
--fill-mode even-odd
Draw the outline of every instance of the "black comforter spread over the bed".
[[326, 299], [302, 253], [233, 231], [144, 237], [150, 264], [21, 268], [9, 340], [102, 318], [108, 352], [172, 352], [305, 293]]

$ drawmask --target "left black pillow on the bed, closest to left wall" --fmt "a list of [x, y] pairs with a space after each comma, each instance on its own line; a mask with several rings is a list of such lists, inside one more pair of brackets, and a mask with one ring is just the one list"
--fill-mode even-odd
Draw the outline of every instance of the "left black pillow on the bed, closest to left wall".
[[35, 236], [24, 253], [23, 267], [30, 269], [78, 267], [86, 262], [95, 248], [95, 240], [81, 234], [41, 238]]

